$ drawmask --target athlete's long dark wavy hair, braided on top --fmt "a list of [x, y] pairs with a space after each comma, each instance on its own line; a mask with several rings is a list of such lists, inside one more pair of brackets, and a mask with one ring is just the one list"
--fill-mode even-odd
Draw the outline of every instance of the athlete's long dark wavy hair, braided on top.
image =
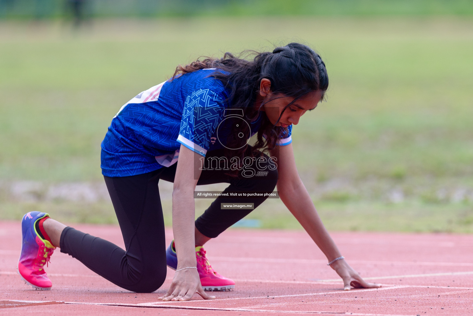
[[[276, 47], [272, 52], [245, 51], [240, 54], [240, 56], [244, 55], [246, 57], [254, 55], [253, 61], [238, 58], [232, 53], [225, 53], [220, 59], [206, 57], [202, 61], [197, 60], [185, 66], [177, 66], [173, 78], [180, 74], [205, 68], [223, 70], [223, 72], [213, 72], [210, 76], [219, 79], [225, 88], [230, 91], [228, 101], [231, 101], [229, 103], [231, 108], [243, 109], [245, 120], [250, 122], [257, 119], [259, 108], [264, 104], [260, 105], [259, 108], [254, 107], [261, 79], [264, 78], [271, 81], [271, 92], [274, 96], [272, 99], [294, 97], [294, 100], [281, 111], [279, 119], [289, 105], [309, 92], [322, 91], [322, 98], [324, 98], [324, 93], [328, 88], [325, 63], [319, 54], [307, 45], [289, 43], [286, 46]], [[256, 143], [253, 147], [252, 154], [254, 156], [262, 155], [263, 151], [274, 149], [278, 138], [287, 132], [287, 128], [276, 126], [278, 122], [272, 124], [266, 115], [263, 115], [263, 122], [258, 130]], [[237, 132], [230, 132], [230, 135], [235, 134]], [[250, 135], [245, 135], [245, 139], [249, 137]], [[230, 139], [229, 141], [238, 140]], [[245, 150], [246, 146], [239, 149], [226, 148], [225, 156], [227, 158], [239, 157], [242, 161]], [[237, 170], [228, 174], [236, 176]]]

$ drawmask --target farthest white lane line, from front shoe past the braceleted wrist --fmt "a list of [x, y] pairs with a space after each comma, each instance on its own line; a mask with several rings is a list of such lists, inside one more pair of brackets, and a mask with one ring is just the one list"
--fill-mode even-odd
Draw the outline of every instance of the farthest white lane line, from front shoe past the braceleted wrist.
[[[307, 263], [321, 264], [327, 263], [323, 259], [283, 259], [283, 258], [242, 258], [242, 257], [211, 257], [211, 261], [228, 261], [228, 262], [263, 262], [263, 263]], [[350, 260], [353, 264], [369, 264], [369, 265], [409, 265], [409, 266], [460, 266], [473, 267], [470, 262], [425, 262], [425, 261], [371, 261], [371, 260]]]

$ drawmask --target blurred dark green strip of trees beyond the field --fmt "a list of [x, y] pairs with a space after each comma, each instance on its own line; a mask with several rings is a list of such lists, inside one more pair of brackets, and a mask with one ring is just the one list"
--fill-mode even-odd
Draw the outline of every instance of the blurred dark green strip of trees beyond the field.
[[0, 19], [473, 15], [472, 0], [0, 0]]

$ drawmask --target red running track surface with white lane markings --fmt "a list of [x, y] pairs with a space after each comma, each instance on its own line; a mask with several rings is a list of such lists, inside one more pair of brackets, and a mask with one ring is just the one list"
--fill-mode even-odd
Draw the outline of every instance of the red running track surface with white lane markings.
[[[123, 247], [118, 226], [74, 225]], [[162, 302], [174, 271], [154, 293], [133, 293], [56, 251], [46, 268], [53, 288], [33, 290], [16, 273], [17, 221], [0, 222], [0, 315], [473, 315], [473, 236], [333, 233], [350, 265], [380, 289], [343, 291], [304, 231], [229, 229], [206, 246], [212, 267], [233, 291]], [[166, 230], [166, 240], [172, 230]]]

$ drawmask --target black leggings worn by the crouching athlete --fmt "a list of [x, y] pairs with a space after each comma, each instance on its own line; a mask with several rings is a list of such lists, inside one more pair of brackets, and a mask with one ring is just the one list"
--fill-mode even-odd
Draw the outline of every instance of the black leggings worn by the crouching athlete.
[[[212, 154], [219, 156], [221, 152], [208, 152], [207, 158]], [[260, 163], [259, 167], [263, 165], [264, 163]], [[174, 182], [176, 167], [177, 164], [174, 164], [137, 176], [105, 176], [126, 251], [102, 238], [67, 227], [61, 233], [61, 252], [77, 258], [90, 270], [126, 290], [157, 290], [166, 278], [166, 241], [158, 182], [159, 179]], [[238, 178], [225, 176], [218, 170], [202, 170], [197, 185], [225, 182], [230, 185], [224, 192], [271, 193], [276, 186], [278, 173], [268, 167], [265, 168], [268, 171], [265, 176], [244, 177], [240, 171]], [[196, 219], [195, 227], [204, 236], [217, 237], [252, 211], [221, 210], [220, 203], [254, 203], [256, 208], [264, 200], [265, 198], [254, 197], [217, 198]]]

